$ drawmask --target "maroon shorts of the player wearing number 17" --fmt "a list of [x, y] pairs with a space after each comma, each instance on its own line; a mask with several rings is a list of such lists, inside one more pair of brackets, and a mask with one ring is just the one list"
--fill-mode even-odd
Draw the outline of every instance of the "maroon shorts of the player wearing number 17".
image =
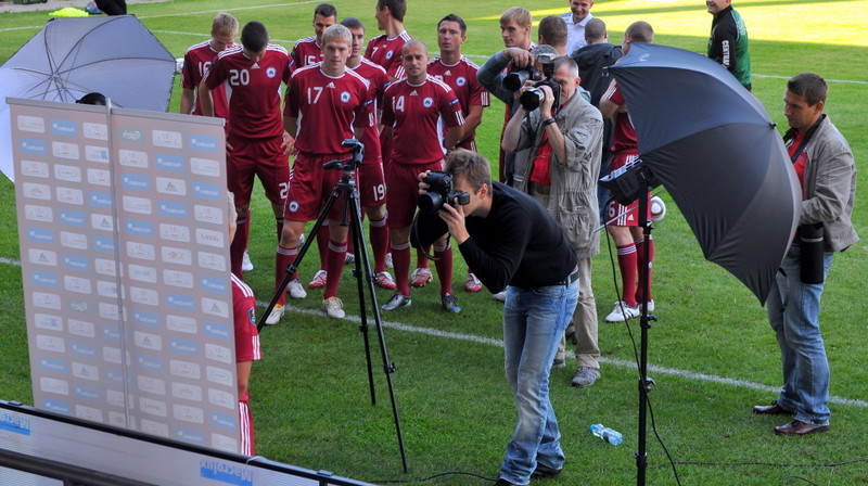
[[[343, 170], [323, 169], [327, 162], [346, 158], [346, 154], [317, 155], [299, 152], [290, 172], [290, 193], [283, 208], [283, 219], [290, 221], [312, 221], [319, 217], [322, 207], [344, 175]], [[341, 195], [329, 210], [329, 219], [340, 219], [344, 205]]]

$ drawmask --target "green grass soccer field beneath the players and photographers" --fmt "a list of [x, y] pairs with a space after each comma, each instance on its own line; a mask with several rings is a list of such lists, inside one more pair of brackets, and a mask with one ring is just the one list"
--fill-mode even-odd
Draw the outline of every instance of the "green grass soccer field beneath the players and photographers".
[[[276, 42], [288, 48], [310, 35], [318, 2], [276, 0], [175, 0], [130, 5], [130, 12], [177, 57], [207, 38], [210, 18], [229, 11], [243, 24], [259, 20]], [[335, 0], [341, 16], [357, 16], [375, 26], [374, 1]], [[409, 0], [406, 26], [436, 50], [436, 22], [449, 12], [469, 25], [464, 53], [477, 63], [502, 48], [498, 17], [514, 2]], [[271, 4], [269, 7], [269, 4]], [[868, 239], [865, 161], [868, 158], [868, 49], [863, 35], [868, 13], [861, 1], [740, 0], [736, 8], [751, 36], [754, 93], [773, 118], [782, 116], [786, 80], [814, 71], [830, 85], [826, 113], [847, 137], [860, 169], [857, 232]], [[563, 0], [533, 2], [534, 18], [567, 10]], [[620, 42], [624, 28], [650, 22], [655, 41], [704, 52], [711, 15], [701, 1], [644, 0], [596, 2], [592, 13], [609, 25]], [[0, 14], [0, 62], [12, 55], [48, 20], [44, 12]], [[368, 35], [375, 33], [369, 28]], [[534, 36], [536, 31], [534, 30]], [[178, 108], [180, 90], [173, 95]], [[478, 130], [480, 146], [497, 158], [502, 105], [489, 107]], [[661, 114], [661, 123], [678, 114]], [[865, 243], [835, 256], [821, 314], [832, 369], [832, 430], [807, 437], [779, 437], [771, 427], [786, 418], [757, 417], [754, 404], [776, 397], [780, 358], [765, 309], [750, 291], [719, 267], [705, 261], [672, 200], [656, 225], [654, 298], [656, 322], [650, 330], [650, 395], [655, 430], [676, 462], [684, 485], [868, 484], [868, 392], [866, 353], [868, 274]], [[24, 322], [17, 229], [12, 183], [0, 180], [0, 398], [33, 401]], [[725, 204], [725, 202], [720, 202]], [[273, 225], [261, 192], [254, 197], [247, 273], [260, 302], [272, 295]], [[318, 266], [311, 253], [302, 266], [303, 280]], [[433, 266], [432, 266], [433, 268]], [[455, 285], [463, 287], [464, 265], [456, 256]], [[610, 248], [605, 239], [595, 260], [595, 294], [600, 318], [617, 299]], [[436, 285], [413, 292], [409, 309], [383, 316], [388, 357], [409, 462], [401, 471], [384, 373], [371, 328], [378, 404], [368, 392], [355, 282], [344, 272], [341, 297], [350, 317], [329, 320], [311, 292], [284, 317], [264, 330], [265, 359], [254, 366], [251, 394], [256, 417], [257, 451], [272, 460], [379, 484], [487, 485], [502, 460], [514, 425], [514, 407], [503, 379], [499, 346], [500, 304], [487, 292], [457, 291], [463, 312], [439, 309]], [[378, 291], [381, 303], [391, 294]], [[629, 331], [638, 341], [639, 328]], [[634, 452], [638, 437], [635, 345], [623, 324], [600, 324], [602, 378], [589, 388], [573, 388], [575, 372], [556, 369], [551, 396], [567, 455], [564, 473], [548, 485], [624, 485], [636, 482]], [[588, 425], [602, 422], [624, 434], [610, 446], [593, 437]], [[677, 484], [661, 442], [649, 421], [648, 484]], [[463, 474], [438, 475], [444, 472]], [[438, 475], [437, 477], [430, 476]], [[537, 484], [537, 483], [534, 483]]]

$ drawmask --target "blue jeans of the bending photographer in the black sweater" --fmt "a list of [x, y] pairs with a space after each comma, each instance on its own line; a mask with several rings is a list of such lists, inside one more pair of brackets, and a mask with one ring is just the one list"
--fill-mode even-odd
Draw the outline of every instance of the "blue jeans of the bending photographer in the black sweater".
[[519, 417], [500, 477], [511, 483], [528, 484], [537, 462], [563, 468], [561, 433], [549, 400], [549, 373], [577, 300], [578, 280], [570, 285], [507, 289], [506, 371]]

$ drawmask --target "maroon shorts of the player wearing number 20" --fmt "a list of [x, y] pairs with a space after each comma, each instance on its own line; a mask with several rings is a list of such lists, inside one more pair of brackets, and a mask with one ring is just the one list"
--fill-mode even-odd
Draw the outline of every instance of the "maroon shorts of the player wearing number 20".
[[283, 137], [248, 139], [228, 136], [232, 152], [227, 156], [227, 187], [235, 195], [235, 205], [250, 204], [254, 176], [265, 188], [271, 204], [283, 205], [290, 180], [290, 159], [283, 152]]

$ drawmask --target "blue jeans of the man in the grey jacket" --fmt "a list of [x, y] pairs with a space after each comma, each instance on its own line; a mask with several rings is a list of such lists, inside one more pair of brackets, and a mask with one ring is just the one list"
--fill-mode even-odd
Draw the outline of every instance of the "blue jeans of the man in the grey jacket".
[[[800, 248], [793, 244], [781, 264], [768, 294], [768, 322], [778, 338], [783, 386], [778, 404], [795, 413], [795, 420], [828, 425], [829, 361], [820, 333], [822, 283], [802, 283], [799, 276]], [[824, 255], [824, 281], [832, 254]]]

